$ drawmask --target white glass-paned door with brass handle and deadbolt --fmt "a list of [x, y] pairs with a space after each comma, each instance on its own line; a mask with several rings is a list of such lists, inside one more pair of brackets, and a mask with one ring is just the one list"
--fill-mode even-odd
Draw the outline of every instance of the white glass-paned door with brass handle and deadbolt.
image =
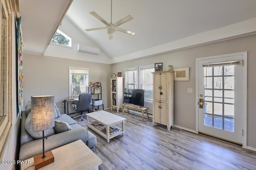
[[246, 53], [197, 59], [198, 132], [244, 143], [244, 61]]

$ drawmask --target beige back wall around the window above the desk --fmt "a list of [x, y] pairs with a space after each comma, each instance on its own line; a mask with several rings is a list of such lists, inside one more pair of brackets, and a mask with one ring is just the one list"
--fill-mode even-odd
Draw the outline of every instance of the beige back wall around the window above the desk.
[[42, 55], [23, 54], [24, 64], [24, 106], [31, 96], [53, 94], [55, 102], [62, 108], [62, 101], [69, 96], [68, 67], [89, 68], [89, 82], [101, 82], [102, 102], [110, 106], [111, 65], [47, 57]]

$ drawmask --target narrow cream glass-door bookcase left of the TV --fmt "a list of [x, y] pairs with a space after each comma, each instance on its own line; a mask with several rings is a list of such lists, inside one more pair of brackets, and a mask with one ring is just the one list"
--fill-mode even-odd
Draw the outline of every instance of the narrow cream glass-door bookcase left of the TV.
[[123, 104], [123, 77], [110, 77], [110, 92], [111, 111], [114, 107], [118, 113]]

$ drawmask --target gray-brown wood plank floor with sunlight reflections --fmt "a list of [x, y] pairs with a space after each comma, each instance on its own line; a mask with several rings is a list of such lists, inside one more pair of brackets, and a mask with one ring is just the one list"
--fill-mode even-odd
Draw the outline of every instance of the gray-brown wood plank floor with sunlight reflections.
[[[107, 143], [88, 129], [97, 137], [96, 154], [103, 161], [99, 170], [256, 170], [255, 151], [178, 128], [167, 131], [137, 115], [114, 114], [126, 118], [124, 136]], [[75, 120], [86, 127], [86, 116]]]

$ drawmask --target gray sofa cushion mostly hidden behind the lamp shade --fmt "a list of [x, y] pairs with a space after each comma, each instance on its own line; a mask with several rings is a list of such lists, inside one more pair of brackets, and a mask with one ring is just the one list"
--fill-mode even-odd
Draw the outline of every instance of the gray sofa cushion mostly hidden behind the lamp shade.
[[[32, 131], [31, 130], [31, 112], [28, 114], [28, 117], [26, 118], [26, 121], [25, 121], [25, 129], [26, 131], [28, 132], [28, 134], [33, 138], [33, 139], [40, 139], [43, 137], [42, 135], [42, 131], [38, 131], [38, 132], [35, 132], [35, 131]], [[50, 136], [50, 135], [54, 135], [54, 129], [53, 128], [50, 128], [50, 129], [47, 129], [46, 131], [44, 131], [44, 135], [46, 136]]]

